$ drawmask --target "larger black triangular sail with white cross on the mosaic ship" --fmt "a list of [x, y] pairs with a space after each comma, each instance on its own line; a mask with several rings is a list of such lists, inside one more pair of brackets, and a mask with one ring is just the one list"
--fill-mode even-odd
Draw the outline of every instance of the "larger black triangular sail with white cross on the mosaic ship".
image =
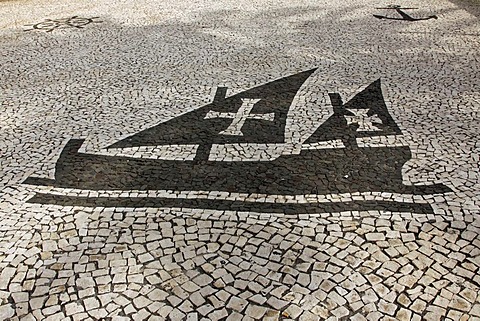
[[145, 129], [108, 148], [212, 144], [283, 143], [288, 110], [316, 69], [300, 72], [225, 98], [219, 88], [212, 103]]

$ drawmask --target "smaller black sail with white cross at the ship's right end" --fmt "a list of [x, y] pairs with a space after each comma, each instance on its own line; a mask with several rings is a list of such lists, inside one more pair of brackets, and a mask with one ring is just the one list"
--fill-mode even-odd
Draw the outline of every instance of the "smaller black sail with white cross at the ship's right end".
[[305, 141], [342, 140], [346, 146], [355, 145], [357, 138], [401, 134], [390, 116], [382, 94], [380, 79], [372, 82], [347, 103], [337, 93], [330, 93], [333, 115]]

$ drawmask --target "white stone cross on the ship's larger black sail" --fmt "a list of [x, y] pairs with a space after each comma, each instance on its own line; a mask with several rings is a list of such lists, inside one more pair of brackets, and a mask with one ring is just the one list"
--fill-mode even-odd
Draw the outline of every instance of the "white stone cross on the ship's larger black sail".
[[231, 118], [233, 119], [227, 129], [220, 132], [221, 135], [243, 136], [242, 127], [247, 119], [263, 119], [268, 121], [275, 120], [275, 113], [268, 114], [250, 114], [253, 106], [261, 99], [242, 98], [242, 106], [236, 113], [221, 113], [217, 111], [209, 111], [205, 119], [210, 118]]

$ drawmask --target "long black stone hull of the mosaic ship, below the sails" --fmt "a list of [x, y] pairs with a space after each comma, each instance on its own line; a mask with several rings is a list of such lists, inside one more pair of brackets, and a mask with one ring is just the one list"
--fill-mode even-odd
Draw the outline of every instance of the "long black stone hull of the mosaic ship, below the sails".
[[[87, 190], [199, 190], [260, 194], [390, 192], [436, 194], [441, 185], [407, 186], [402, 166], [411, 158], [401, 147], [303, 150], [265, 161], [159, 160], [79, 153], [83, 140], [70, 140], [55, 179], [26, 184]], [[375, 180], [372, 180], [372, 177]]]

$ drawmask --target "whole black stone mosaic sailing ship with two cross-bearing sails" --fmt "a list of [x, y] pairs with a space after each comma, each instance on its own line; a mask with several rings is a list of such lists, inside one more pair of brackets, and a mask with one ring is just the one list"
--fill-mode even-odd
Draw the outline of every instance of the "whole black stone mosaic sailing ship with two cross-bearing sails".
[[[333, 114], [306, 141], [286, 144], [288, 111], [315, 71], [230, 97], [220, 87], [210, 104], [98, 153], [82, 152], [84, 140], [70, 139], [54, 179], [31, 176], [24, 181], [52, 187], [37, 191], [29, 202], [269, 213], [434, 213], [421, 196], [451, 190], [443, 184], [403, 184], [402, 166], [412, 155], [408, 146], [381, 143], [402, 133], [388, 112], [380, 79], [347, 102], [329, 93]], [[275, 153], [259, 152], [265, 146], [274, 146]], [[342, 195], [369, 197], [346, 202], [332, 197]]]

